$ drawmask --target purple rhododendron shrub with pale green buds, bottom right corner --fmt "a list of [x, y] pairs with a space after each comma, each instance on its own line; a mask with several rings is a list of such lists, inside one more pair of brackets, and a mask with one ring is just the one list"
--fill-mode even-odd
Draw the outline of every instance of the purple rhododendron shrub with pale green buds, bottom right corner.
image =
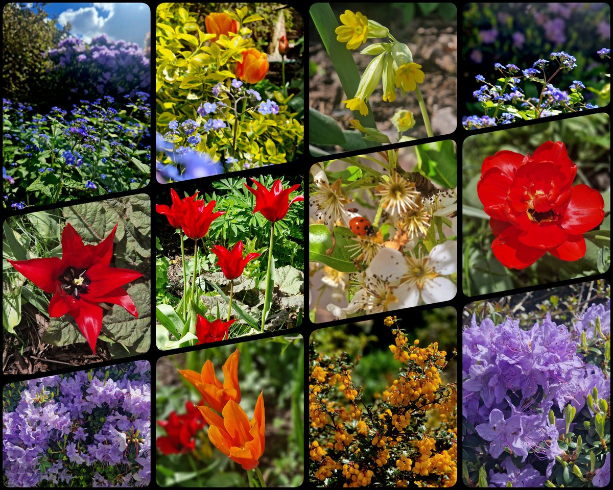
[[608, 484], [611, 301], [523, 324], [473, 312], [462, 332], [464, 483]]

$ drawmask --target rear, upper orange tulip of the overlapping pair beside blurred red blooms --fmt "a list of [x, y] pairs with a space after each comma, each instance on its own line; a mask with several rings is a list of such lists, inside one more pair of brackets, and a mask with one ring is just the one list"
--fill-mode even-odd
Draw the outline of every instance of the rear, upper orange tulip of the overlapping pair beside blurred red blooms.
[[240, 403], [240, 386], [238, 386], [238, 349], [232, 352], [221, 368], [224, 382], [217, 379], [215, 367], [211, 361], [202, 366], [202, 372], [180, 369], [181, 375], [196, 386], [204, 401], [216, 412], [222, 413], [224, 406], [230, 402]]

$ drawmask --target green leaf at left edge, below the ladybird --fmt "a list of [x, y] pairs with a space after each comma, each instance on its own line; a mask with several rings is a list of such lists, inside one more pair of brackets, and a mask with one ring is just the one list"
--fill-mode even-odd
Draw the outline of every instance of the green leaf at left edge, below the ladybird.
[[[346, 230], [343, 232], [342, 230]], [[309, 226], [309, 260], [321, 262], [341, 272], [355, 272], [356, 266], [345, 246], [353, 244], [350, 238], [353, 235], [348, 228], [335, 227], [335, 246], [330, 255], [327, 251], [332, 247], [332, 235], [326, 225], [316, 224]]]

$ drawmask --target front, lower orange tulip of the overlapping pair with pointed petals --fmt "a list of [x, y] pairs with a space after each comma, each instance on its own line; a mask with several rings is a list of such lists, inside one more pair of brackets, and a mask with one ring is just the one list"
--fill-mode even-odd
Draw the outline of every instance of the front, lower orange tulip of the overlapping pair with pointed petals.
[[209, 407], [198, 407], [209, 424], [208, 439], [219, 451], [244, 470], [253, 470], [264, 453], [264, 394], [257, 397], [253, 418], [249, 418], [240, 405], [230, 400], [221, 412]]

